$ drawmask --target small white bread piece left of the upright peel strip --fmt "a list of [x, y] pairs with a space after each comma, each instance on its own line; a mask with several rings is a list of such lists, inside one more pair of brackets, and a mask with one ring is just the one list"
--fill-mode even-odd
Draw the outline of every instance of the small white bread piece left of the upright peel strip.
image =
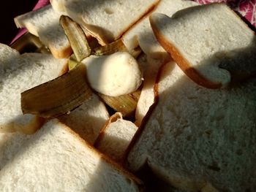
[[67, 58], [72, 49], [63, 28], [59, 25], [60, 16], [61, 14], [55, 12], [49, 4], [20, 15], [14, 20], [17, 27], [25, 27], [31, 34], [39, 37], [55, 58]]

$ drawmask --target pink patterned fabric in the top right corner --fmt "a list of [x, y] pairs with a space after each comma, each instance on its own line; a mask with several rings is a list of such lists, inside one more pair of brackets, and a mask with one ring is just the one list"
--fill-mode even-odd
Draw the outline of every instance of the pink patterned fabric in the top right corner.
[[256, 28], [256, 0], [195, 0], [200, 4], [225, 3], [239, 12]]

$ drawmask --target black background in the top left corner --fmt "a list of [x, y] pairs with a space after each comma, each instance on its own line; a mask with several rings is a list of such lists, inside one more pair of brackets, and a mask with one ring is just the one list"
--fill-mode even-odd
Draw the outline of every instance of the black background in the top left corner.
[[18, 28], [13, 18], [31, 11], [38, 0], [7, 0], [1, 1], [0, 5], [0, 42], [9, 45]]

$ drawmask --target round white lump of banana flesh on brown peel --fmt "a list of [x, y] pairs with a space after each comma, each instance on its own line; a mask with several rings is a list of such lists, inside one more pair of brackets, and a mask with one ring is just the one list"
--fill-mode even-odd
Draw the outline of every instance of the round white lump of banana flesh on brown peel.
[[86, 65], [89, 84], [107, 96], [121, 96], [136, 91], [143, 79], [135, 58], [127, 52], [91, 55], [81, 61]]

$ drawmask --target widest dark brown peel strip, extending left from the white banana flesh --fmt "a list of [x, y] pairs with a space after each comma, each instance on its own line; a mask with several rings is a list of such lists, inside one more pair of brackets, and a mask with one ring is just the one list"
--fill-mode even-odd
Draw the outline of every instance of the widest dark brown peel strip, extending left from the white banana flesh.
[[21, 108], [23, 114], [55, 118], [74, 110], [90, 99], [91, 94], [86, 80], [86, 67], [80, 64], [55, 80], [21, 93]]

